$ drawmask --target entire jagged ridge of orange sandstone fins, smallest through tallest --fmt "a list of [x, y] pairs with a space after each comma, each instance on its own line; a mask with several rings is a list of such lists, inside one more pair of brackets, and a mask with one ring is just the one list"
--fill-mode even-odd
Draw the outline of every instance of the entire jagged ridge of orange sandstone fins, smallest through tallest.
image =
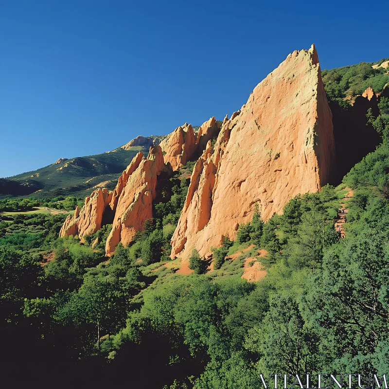
[[234, 238], [239, 225], [251, 220], [255, 203], [267, 219], [294, 195], [327, 183], [335, 144], [315, 47], [289, 54], [221, 129], [211, 118], [195, 136], [192, 125], [184, 124], [152, 146], [147, 158], [139, 153], [113, 192], [93, 192], [83, 209], [68, 217], [61, 236], [82, 238], [113, 223], [106, 242], [111, 255], [152, 217], [159, 175], [200, 154], [172, 238], [173, 257], [187, 259], [193, 247], [207, 256], [211, 246], [226, 235]]

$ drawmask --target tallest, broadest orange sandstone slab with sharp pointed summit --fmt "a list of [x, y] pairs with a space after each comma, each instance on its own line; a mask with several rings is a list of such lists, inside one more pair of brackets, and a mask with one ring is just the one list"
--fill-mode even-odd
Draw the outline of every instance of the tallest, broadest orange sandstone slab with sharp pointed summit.
[[172, 257], [192, 248], [208, 256], [255, 203], [266, 220], [299, 193], [328, 182], [335, 162], [332, 114], [314, 46], [295, 51], [251, 93], [240, 112], [223, 123], [196, 162], [172, 238]]

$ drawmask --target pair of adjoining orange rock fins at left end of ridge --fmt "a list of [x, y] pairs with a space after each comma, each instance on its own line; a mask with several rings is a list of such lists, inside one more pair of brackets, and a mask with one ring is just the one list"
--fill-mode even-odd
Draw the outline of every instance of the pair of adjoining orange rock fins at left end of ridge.
[[81, 210], [76, 208], [74, 216], [69, 215], [59, 236], [78, 235], [81, 241], [102, 227], [107, 214], [113, 221], [111, 234], [106, 242], [110, 256], [119, 242], [127, 245], [145, 220], [152, 217], [152, 200], [155, 197], [157, 176], [165, 169], [162, 150], [158, 145], [150, 148], [147, 158], [138, 153], [119, 177], [116, 188], [94, 191], [85, 199]]

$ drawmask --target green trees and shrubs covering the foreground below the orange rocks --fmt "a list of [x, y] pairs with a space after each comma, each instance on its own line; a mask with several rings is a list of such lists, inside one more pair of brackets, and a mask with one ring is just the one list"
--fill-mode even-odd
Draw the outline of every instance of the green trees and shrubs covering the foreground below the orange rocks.
[[[234, 241], [226, 237], [212, 248], [211, 271], [195, 250], [191, 275], [176, 273], [179, 263], [169, 257], [193, 162], [169, 179], [154, 217], [110, 259], [104, 250], [110, 225], [81, 243], [77, 236], [58, 238], [66, 213], [2, 220], [6, 380], [254, 389], [259, 374], [274, 372], [386, 373], [389, 99], [380, 100], [379, 110], [376, 117], [369, 111], [368, 121], [381, 145], [340, 185], [292, 198], [266, 223], [257, 207]], [[28, 210], [34, 201], [0, 206]], [[71, 210], [81, 201], [39, 204]], [[344, 235], [336, 230], [343, 206]], [[248, 266], [263, 266], [260, 282], [241, 277], [248, 258]]]

